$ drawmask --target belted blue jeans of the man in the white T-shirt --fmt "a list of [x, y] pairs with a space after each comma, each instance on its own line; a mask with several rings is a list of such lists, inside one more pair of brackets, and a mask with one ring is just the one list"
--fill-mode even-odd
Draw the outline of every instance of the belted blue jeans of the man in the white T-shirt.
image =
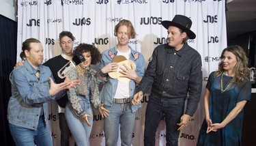
[[105, 106], [109, 110], [109, 116], [104, 118], [105, 145], [117, 145], [119, 124], [121, 145], [131, 145], [132, 132], [135, 123], [136, 112], [132, 113], [131, 104], [115, 104]]

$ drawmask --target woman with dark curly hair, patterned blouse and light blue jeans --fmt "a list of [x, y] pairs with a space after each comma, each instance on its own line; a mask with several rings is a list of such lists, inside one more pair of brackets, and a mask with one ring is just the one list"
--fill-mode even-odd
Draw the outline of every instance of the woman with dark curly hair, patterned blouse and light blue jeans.
[[68, 105], [66, 106], [66, 119], [68, 127], [76, 141], [76, 145], [89, 145], [91, 134], [92, 109], [90, 102], [98, 108], [101, 114], [107, 114], [103, 104], [99, 100], [97, 72], [90, 68], [100, 61], [100, 51], [91, 44], [79, 44], [73, 51], [81, 53], [85, 61], [76, 65], [76, 68], [68, 73], [69, 78], [80, 79], [80, 85], [68, 91]]

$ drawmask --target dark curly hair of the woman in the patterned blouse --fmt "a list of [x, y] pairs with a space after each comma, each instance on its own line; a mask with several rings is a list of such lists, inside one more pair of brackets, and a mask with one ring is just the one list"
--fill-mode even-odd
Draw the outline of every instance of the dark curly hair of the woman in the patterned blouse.
[[87, 52], [91, 53], [91, 64], [96, 65], [97, 63], [100, 62], [100, 57], [101, 57], [100, 50], [96, 48], [96, 46], [91, 44], [85, 44], [85, 43], [79, 44], [79, 46], [76, 46], [74, 48], [73, 54], [74, 55], [76, 53], [83, 54]]

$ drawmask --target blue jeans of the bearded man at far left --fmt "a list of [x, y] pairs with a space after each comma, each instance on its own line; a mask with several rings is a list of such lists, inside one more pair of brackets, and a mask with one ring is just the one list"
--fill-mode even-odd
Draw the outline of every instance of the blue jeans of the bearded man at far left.
[[9, 123], [9, 128], [17, 146], [34, 146], [35, 144], [37, 146], [51, 146], [53, 145], [51, 132], [44, 125], [44, 119], [40, 117], [37, 130], [15, 126], [12, 123]]

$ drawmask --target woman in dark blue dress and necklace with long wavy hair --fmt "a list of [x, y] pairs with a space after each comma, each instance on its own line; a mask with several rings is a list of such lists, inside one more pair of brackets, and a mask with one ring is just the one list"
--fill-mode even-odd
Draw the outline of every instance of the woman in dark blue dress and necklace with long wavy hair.
[[197, 145], [242, 145], [243, 108], [251, 99], [248, 59], [240, 46], [221, 53], [218, 70], [205, 88], [205, 120]]

